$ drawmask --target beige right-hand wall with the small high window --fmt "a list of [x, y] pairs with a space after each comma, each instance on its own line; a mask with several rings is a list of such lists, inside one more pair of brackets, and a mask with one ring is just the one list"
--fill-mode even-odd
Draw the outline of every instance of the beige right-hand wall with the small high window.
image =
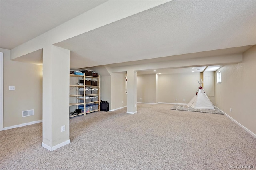
[[[243, 61], [221, 67], [216, 83], [215, 105], [256, 134], [256, 45], [243, 53]], [[216, 75], [215, 75], [216, 77]], [[218, 104], [217, 104], [218, 102]], [[230, 108], [232, 112], [230, 112]]]

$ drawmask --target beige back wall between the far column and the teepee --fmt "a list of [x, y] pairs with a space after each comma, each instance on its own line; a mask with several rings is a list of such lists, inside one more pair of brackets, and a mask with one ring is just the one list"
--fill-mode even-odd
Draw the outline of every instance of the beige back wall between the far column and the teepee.
[[138, 75], [137, 101], [143, 103], [188, 103], [199, 87], [197, 80], [200, 80], [200, 73]]

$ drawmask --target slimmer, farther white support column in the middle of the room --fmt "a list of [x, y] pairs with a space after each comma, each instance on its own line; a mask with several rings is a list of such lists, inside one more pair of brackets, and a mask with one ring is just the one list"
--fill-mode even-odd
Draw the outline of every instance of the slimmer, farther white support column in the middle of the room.
[[127, 71], [127, 112], [137, 113], [137, 71]]

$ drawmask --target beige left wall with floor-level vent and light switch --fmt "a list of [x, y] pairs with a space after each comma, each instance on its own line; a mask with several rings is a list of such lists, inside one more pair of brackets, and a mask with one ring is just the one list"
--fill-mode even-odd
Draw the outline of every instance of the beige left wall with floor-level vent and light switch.
[[[42, 66], [10, 60], [4, 53], [4, 120], [3, 128], [42, 120]], [[9, 86], [15, 86], [9, 91]], [[34, 115], [22, 117], [22, 111], [34, 109]]]

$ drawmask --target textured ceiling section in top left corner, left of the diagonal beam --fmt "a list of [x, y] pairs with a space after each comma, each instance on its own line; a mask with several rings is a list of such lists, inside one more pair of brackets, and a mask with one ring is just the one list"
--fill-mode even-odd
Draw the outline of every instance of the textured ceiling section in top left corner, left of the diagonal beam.
[[107, 0], [0, 0], [0, 47], [12, 49]]

